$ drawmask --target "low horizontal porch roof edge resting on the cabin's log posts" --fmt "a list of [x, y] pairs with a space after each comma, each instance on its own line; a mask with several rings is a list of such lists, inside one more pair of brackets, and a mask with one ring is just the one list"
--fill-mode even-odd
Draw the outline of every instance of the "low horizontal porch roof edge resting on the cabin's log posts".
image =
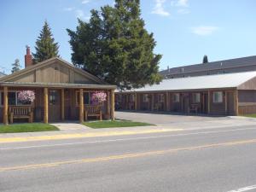
[[0, 86], [12, 87], [48, 87], [48, 88], [84, 88], [84, 89], [116, 89], [112, 84], [55, 84], [55, 83], [26, 83], [26, 82], [0, 82]]

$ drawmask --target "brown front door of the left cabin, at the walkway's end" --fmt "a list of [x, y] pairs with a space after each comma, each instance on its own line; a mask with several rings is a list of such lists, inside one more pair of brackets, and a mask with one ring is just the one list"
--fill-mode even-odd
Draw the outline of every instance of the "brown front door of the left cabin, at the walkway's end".
[[61, 120], [61, 90], [49, 90], [48, 119], [51, 122]]

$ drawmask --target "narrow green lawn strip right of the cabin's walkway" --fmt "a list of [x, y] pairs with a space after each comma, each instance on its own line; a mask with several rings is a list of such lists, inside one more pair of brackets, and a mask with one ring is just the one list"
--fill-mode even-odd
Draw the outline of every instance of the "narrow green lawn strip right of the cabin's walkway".
[[127, 126], [147, 126], [152, 124], [134, 122], [130, 120], [102, 120], [102, 121], [84, 122], [84, 125], [89, 126], [90, 128], [98, 129], [98, 128], [127, 127]]

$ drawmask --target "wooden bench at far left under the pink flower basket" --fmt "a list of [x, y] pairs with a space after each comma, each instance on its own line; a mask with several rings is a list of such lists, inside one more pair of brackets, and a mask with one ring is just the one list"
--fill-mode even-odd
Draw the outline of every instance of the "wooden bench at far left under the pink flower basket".
[[9, 107], [9, 122], [14, 123], [14, 119], [28, 119], [29, 123], [33, 122], [33, 108], [27, 106]]

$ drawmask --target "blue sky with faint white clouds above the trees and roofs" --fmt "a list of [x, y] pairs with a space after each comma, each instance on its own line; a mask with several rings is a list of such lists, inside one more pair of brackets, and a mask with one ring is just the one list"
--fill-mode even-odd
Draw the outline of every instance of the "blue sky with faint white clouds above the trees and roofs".
[[[48, 20], [60, 55], [71, 60], [66, 28], [77, 18], [88, 20], [90, 9], [113, 0], [22, 0], [0, 2], [0, 70], [9, 73], [16, 58], [24, 66], [26, 44], [35, 41]], [[141, 0], [148, 32], [154, 32], [160, 69], [200, 63], [203, 55], [218, 61], [256, 55], [255, 0]]]

